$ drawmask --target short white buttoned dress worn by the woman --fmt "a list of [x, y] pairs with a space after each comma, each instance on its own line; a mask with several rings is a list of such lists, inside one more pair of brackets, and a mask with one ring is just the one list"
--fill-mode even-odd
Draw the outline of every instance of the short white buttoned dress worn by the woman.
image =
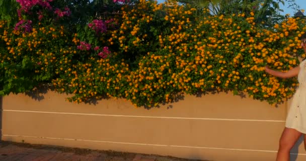
[[286, 118], [287, 128], [306, 134], [306, 59], [299, 64], [298, 88], [293, 96]]

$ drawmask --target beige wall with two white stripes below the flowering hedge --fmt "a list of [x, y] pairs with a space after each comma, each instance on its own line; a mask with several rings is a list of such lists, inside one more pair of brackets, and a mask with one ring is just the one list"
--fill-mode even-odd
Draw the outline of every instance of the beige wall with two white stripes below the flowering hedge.
[[[207, 160], [274, 160], [287, 104], [208, 94], [172, 108], [134, 108], [124, 100], [74, 104], [48, 92], [3, 98], [2, 139]], [[305, 160], [301, 140], [292, 150]], [[297, 155], [298, 154], [298, 155]]]

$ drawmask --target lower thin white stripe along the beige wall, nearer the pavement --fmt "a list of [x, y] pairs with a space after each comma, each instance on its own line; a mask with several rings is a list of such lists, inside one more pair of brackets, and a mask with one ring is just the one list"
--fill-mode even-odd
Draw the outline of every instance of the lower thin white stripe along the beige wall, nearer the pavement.
[[[101, 143], [114, 143], [114, 144], [129, 144], [129, 145], [146, 145], [146, 146], [164, 146], [164, 147], [180, 147], [180, 148], [197, 148], [197, 149], [215, 149], [215, 150], [234, 150], [234, 151], [256, 151], [256, 152], [274, 152], [275, 150], [259, 150], [259, 149], [235, 149], [235, 148], [220, 148], [220, 147], [203, 147], [203, 146], [182, 146], [182, 145], [163, 145], [163, 144], [146, 144], [146, 143], [134, 143], [134, 142], [116, 142], [116, 141], [100, 141], [100, 140], [83, 140], [83, 139], [69, 139], [69, 138], [55, 138], [55, 137], [39, 137], [39, 136], [21, 136], [21, 135], [9, 135], [3, 134], [8, 137], [28, 137], [39, 139], [57, 139], [57, 140], [69, 140], [69, 141], [86, 141], [86, 142], [101, 142]], [[306, 155], [303, 153], [290, 153], [291, 155]]]

